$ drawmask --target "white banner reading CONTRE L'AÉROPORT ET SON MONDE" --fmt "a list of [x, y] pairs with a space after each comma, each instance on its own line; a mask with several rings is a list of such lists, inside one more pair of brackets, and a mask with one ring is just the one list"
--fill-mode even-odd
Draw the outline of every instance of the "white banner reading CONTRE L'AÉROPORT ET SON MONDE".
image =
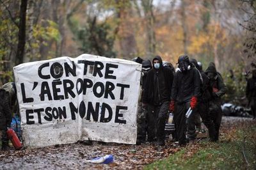
[[141, 65], [90, 54], [13, 68], [24, 146], [135, 144]]

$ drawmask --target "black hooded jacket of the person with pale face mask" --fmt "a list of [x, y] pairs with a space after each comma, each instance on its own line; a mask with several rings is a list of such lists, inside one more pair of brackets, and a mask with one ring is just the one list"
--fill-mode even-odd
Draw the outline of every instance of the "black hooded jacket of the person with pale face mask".
[[[159, 60], [160, 68], [156, 69], [153, 65], [153, 68], [148, 71], [147, 79], [144, 84], [145, 89], [142, 102], [145, 104], [160, 105], [163, 104], [163, 102], [170, 101], [173, 73], [170, 68], [163, 66], [163, 61], [160, 56], [156, 56], [154, 59]], [[154, 59], [152, 61], [154, 61]]]

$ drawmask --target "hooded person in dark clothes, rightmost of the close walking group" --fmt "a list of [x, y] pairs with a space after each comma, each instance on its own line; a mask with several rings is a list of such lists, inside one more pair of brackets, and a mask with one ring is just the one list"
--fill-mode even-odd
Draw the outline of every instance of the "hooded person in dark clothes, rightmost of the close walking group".
[[214, 123], [216, 130], [216, 135], [214, 141], [219, 140], [219, 130], [222, 118], [221, 110], [221, 97], [225, 95], [227, 87], [225, 86], [221, 74], [217, 72], [214, 63], [209, 63], [208, 68], [205, 70], [205, 73], [209, 79], [209, 84], [211, 86], [211, 100], [210, 100], [210, 115]]

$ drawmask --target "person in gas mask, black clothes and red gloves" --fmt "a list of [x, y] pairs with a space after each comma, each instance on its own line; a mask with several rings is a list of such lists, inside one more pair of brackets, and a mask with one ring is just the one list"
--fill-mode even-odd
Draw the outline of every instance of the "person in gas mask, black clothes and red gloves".
[[[200, 73], [196, 70], [187, 55], [180, 56], [179, 67], [174, 75], [172, 84], [172, 95], [170, 102], [170, 111], [173, 112], [173, 120], [175, 121], [175, 130], [180, 146], [186, 144], [186, 122], [191, 123], [193, 119], [193, 111], [186, 120], [185, 114], [189, 107], [196, 109], [198, 97], [200, 96]], [[195, 140], [195, 132], [188, 134], [189, 141]]]

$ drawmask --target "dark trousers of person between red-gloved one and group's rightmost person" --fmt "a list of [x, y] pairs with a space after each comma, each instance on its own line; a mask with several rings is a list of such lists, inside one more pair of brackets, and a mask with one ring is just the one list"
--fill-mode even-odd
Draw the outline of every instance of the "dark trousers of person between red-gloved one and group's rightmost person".
[[198, 112], [202, 118], [202, 121], [203, 121], [205, 127], [207, 127], [207, 129], [208, 129], [209, 137], [210, 137], [211, 141], [214, 141], [214, 138], [216, 135], [216, 130], [214, 127], [214, 123], [211, 119], [210, 110], [209, 110], [209, 102], [200, 102], [200, 104], [198, 105]]

